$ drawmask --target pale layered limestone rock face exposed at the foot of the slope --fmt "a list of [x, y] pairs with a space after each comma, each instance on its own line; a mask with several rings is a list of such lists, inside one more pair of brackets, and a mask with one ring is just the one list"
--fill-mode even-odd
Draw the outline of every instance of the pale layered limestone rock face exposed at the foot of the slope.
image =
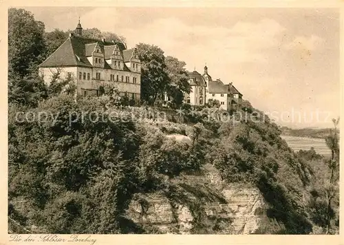
[[178, 198], [166, 193], [134, 198], [127, 217], [160, 233], [250, 234], [263, 228], [267, 206], [258, 189], [226, 184], [209, 166], [203, 173], [171, 181]]

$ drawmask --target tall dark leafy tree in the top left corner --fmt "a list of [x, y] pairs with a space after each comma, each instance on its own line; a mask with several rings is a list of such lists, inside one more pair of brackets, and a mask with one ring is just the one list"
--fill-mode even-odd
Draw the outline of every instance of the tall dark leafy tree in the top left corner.
[[21, 77], [30, 74], [43, 61], [44, 24], [35, 21], [31, 12], [8, 10], [8, 70]]

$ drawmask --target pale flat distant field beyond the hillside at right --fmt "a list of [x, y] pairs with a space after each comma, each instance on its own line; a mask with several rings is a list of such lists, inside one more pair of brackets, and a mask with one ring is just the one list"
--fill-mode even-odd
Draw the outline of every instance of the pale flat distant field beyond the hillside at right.
[[305, 138], [297, 136], [281, 136], [294, 151], [309, 150], [314, 147], [316, 153], [330, 155], [331, 151], [327, 148], [325, 140], [318, 138]]

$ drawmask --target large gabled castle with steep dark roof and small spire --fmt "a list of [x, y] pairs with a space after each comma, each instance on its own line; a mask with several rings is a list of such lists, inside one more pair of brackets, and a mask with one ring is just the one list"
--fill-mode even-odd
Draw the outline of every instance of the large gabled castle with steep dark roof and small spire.
[[58, 47], [41, 65], [39, 73], [48, 85], [54, 74], [72, 76], [78, 94], [99, 95], [102, 87], [114, 84], [120, 96], [140, 100], [141, 63], [136, 48], [125, 43], [83, 37], [80, 21], [75, 34]]

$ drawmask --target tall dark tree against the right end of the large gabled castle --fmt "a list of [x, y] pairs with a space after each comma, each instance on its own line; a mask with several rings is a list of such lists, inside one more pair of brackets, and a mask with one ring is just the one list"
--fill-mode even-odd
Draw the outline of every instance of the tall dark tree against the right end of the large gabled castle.
[[136, 48], [141, 61], [141, 99], [154, 105], [169, 85], [164, 51], [158, 46], [145, 43], [139, 43]]

